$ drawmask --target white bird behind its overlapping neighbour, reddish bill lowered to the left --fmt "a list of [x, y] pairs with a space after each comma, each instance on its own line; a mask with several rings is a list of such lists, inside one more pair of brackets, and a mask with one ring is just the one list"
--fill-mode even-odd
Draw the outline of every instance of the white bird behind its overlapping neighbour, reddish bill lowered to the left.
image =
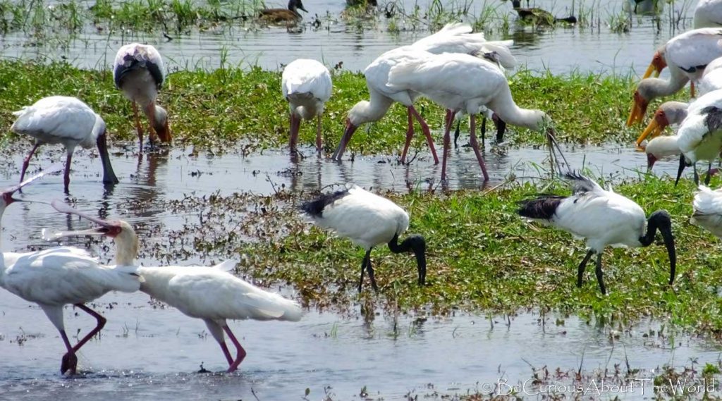
[[487, 42], [487, 40], [484, 39], [483, 33], [471, 33], [471, 27], [469, 25], [448, 24], [439, 32], [417, 40], [412, 45], [388, 50], [386, 53], [378, 56], [378, 58], [364, 70], [366, 87], [368, 88], [370, 98], [368, 101], [362, 100], [357, 102], [356, 105], [349, 110], [344, 135], [331, 158], [340, 160], [347, 144], [360, 125], [380, 120], [386, 115], [388, 108], [393, 105], [393, 102], [399, 102], [406, 107], [408, 113], [406, 144], [404, 144], [404, 151], [401, 152], [401, 162], [406, 162], [406, 153], [409, 150], [409, 145], [414, 136], [413, 119], [416, 118], [426, 136], [434, 162], [438, 163], [439, 158], [436, 156], [436, 149], [434, 148], [429, 126], [414, 108], [414, 100], [419, 97], [419, 94], [417, 92], [388, 87], [388, 73], [391, 67], [396, 66], [398, 63], [412, 60], [418, 56], [418, 50], [425, 50], [437, 54], [466, 53], [479, 56], [486, 55], [497, 60], [504, 68], [513, 68], [516, 66], [516, 58], [511, 55], [508, 49], [512, 44], [512, 40]]

